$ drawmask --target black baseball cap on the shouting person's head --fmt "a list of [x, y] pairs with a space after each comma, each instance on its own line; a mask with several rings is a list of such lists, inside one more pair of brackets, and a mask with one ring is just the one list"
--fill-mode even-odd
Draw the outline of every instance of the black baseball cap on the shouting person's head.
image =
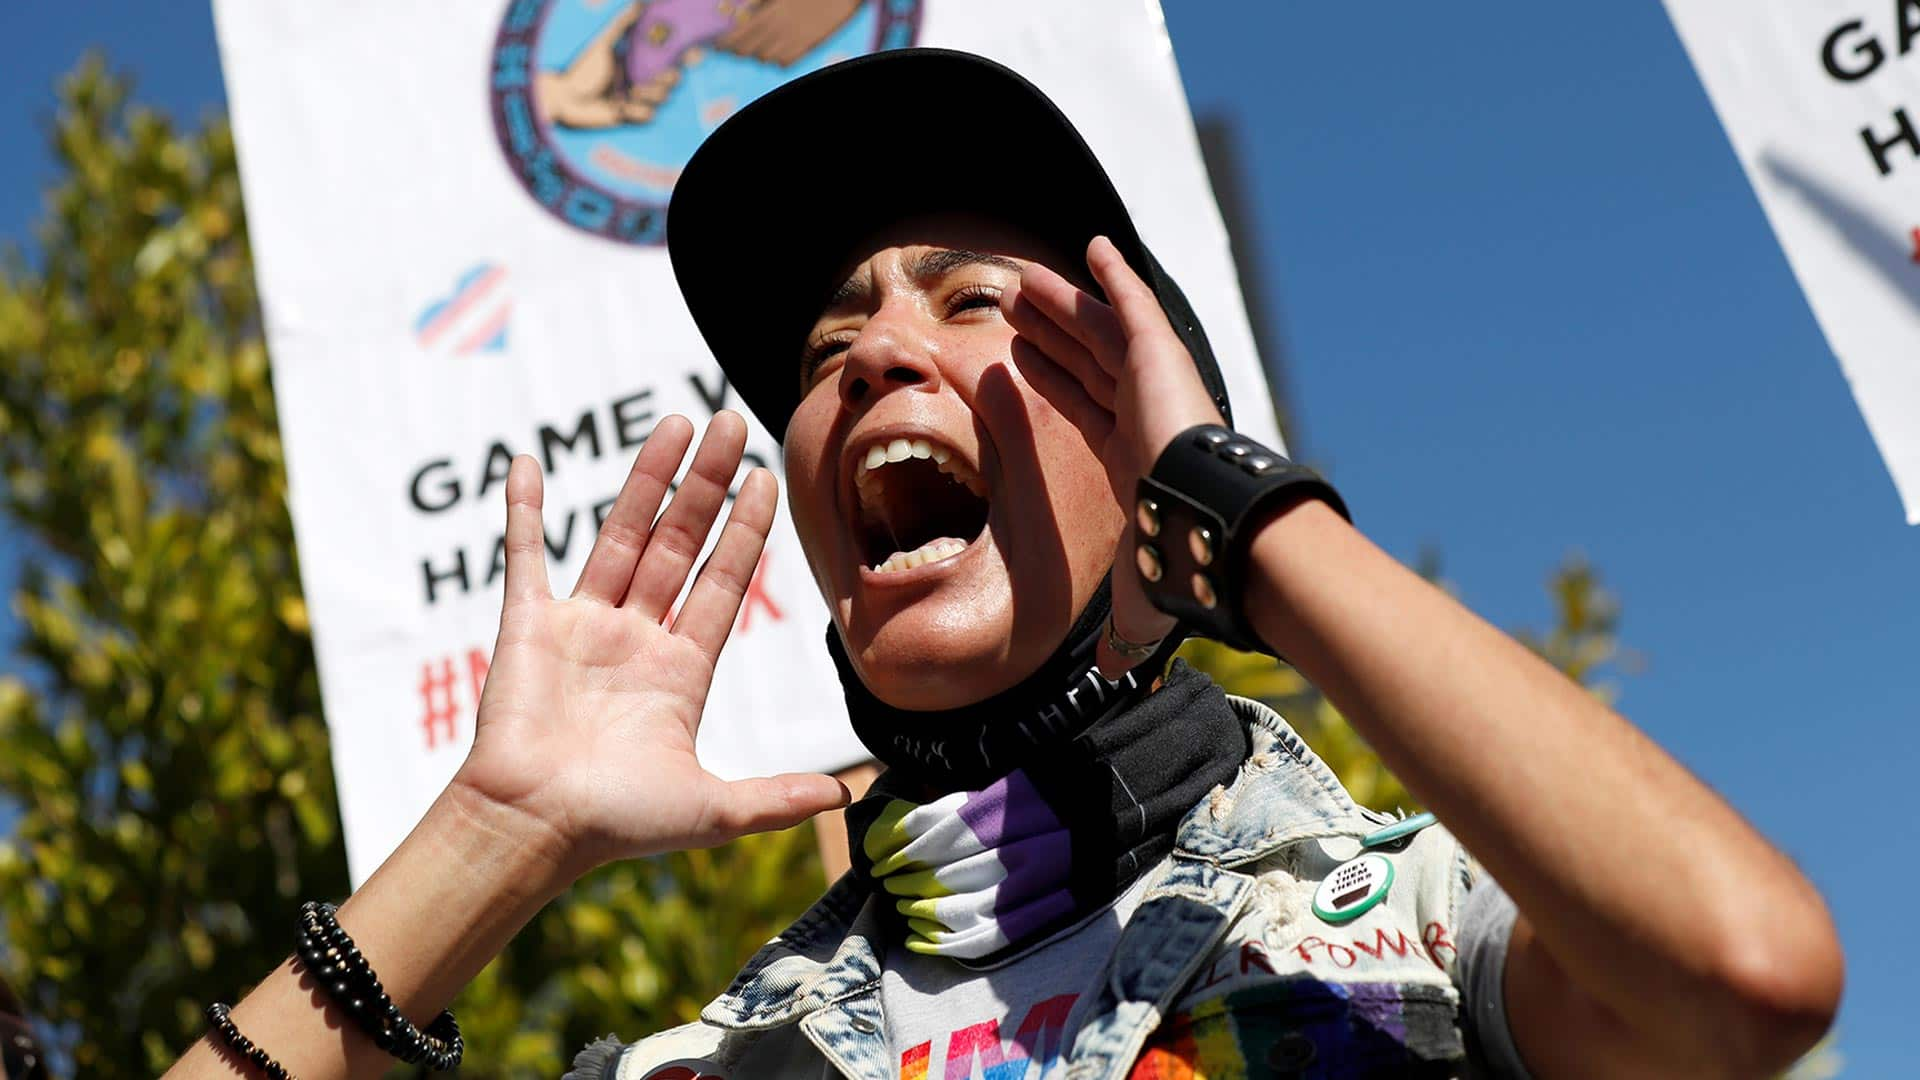
[[[987, 135], [968, 140], [968, 125]], [[829, 156], [833, 142], [881, 154]], [[1114, 240], [1231, 423], [1227, 382], [1192, 306], [1060, 108], [983, 56], [899, 48], [822, 67], [733, 113], [693, 152], [666, 208], [666, 250], [693, 323], [774, 438], [785, 438], [799, 405], [806, 331], [852, 246], [939, 211], [993, 217], [1060, 252]], [[778, 261], [778, 284], [743, 302], [756, 261]]]

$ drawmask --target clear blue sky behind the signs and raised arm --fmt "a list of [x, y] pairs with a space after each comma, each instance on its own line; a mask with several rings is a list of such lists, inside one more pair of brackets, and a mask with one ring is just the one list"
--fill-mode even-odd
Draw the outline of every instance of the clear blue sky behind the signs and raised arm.
[[[1920, 532], [1661, 6], [1167, 8], [1240, 127], [1308, 452], [1500, 625], [1592, 559], [1644, 661], [1620, 709], [1834, 905], [1847, 1072], [1910, 1068]], [[200, 4], [8, 4], [0, 40], [4, 238], [83, 48], [182, 119], [223, 100]]]

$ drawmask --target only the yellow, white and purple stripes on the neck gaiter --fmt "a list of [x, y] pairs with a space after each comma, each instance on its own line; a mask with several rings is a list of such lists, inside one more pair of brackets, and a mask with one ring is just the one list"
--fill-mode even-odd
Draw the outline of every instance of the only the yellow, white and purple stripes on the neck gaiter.
[[931, 803], [889, 801], [862, 838], [916, 953], [979, 959], [1073, 911], [1073, 842], [1023, 771]]

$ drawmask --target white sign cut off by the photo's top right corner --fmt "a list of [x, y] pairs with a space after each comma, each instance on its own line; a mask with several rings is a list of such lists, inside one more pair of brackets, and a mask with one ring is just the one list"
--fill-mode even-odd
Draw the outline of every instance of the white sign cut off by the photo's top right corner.
[[1667, 0], [1920, 523], [1920, 0]]

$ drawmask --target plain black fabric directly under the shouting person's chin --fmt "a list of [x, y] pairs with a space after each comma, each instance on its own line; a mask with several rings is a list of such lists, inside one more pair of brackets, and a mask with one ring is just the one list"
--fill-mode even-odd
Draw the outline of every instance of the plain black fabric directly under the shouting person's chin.
[[883, 765], [939, 792], [983, 788], [1035, 749], [1075, 738], [1119, 703], [1150, 690], [1183, 640], [1169, 634], [1152, 657], [1119, 680], [1102, 676], [1094, 653], [1114, 603], [1110, 586], [1110, 578], [1100, 580], [1066, 640], [1033, 675], [958, 709], [899, 709], [881, 701], [860, 682], [845, 642], [828, 625], [828, 653], [839, 671], [854, 734]]

